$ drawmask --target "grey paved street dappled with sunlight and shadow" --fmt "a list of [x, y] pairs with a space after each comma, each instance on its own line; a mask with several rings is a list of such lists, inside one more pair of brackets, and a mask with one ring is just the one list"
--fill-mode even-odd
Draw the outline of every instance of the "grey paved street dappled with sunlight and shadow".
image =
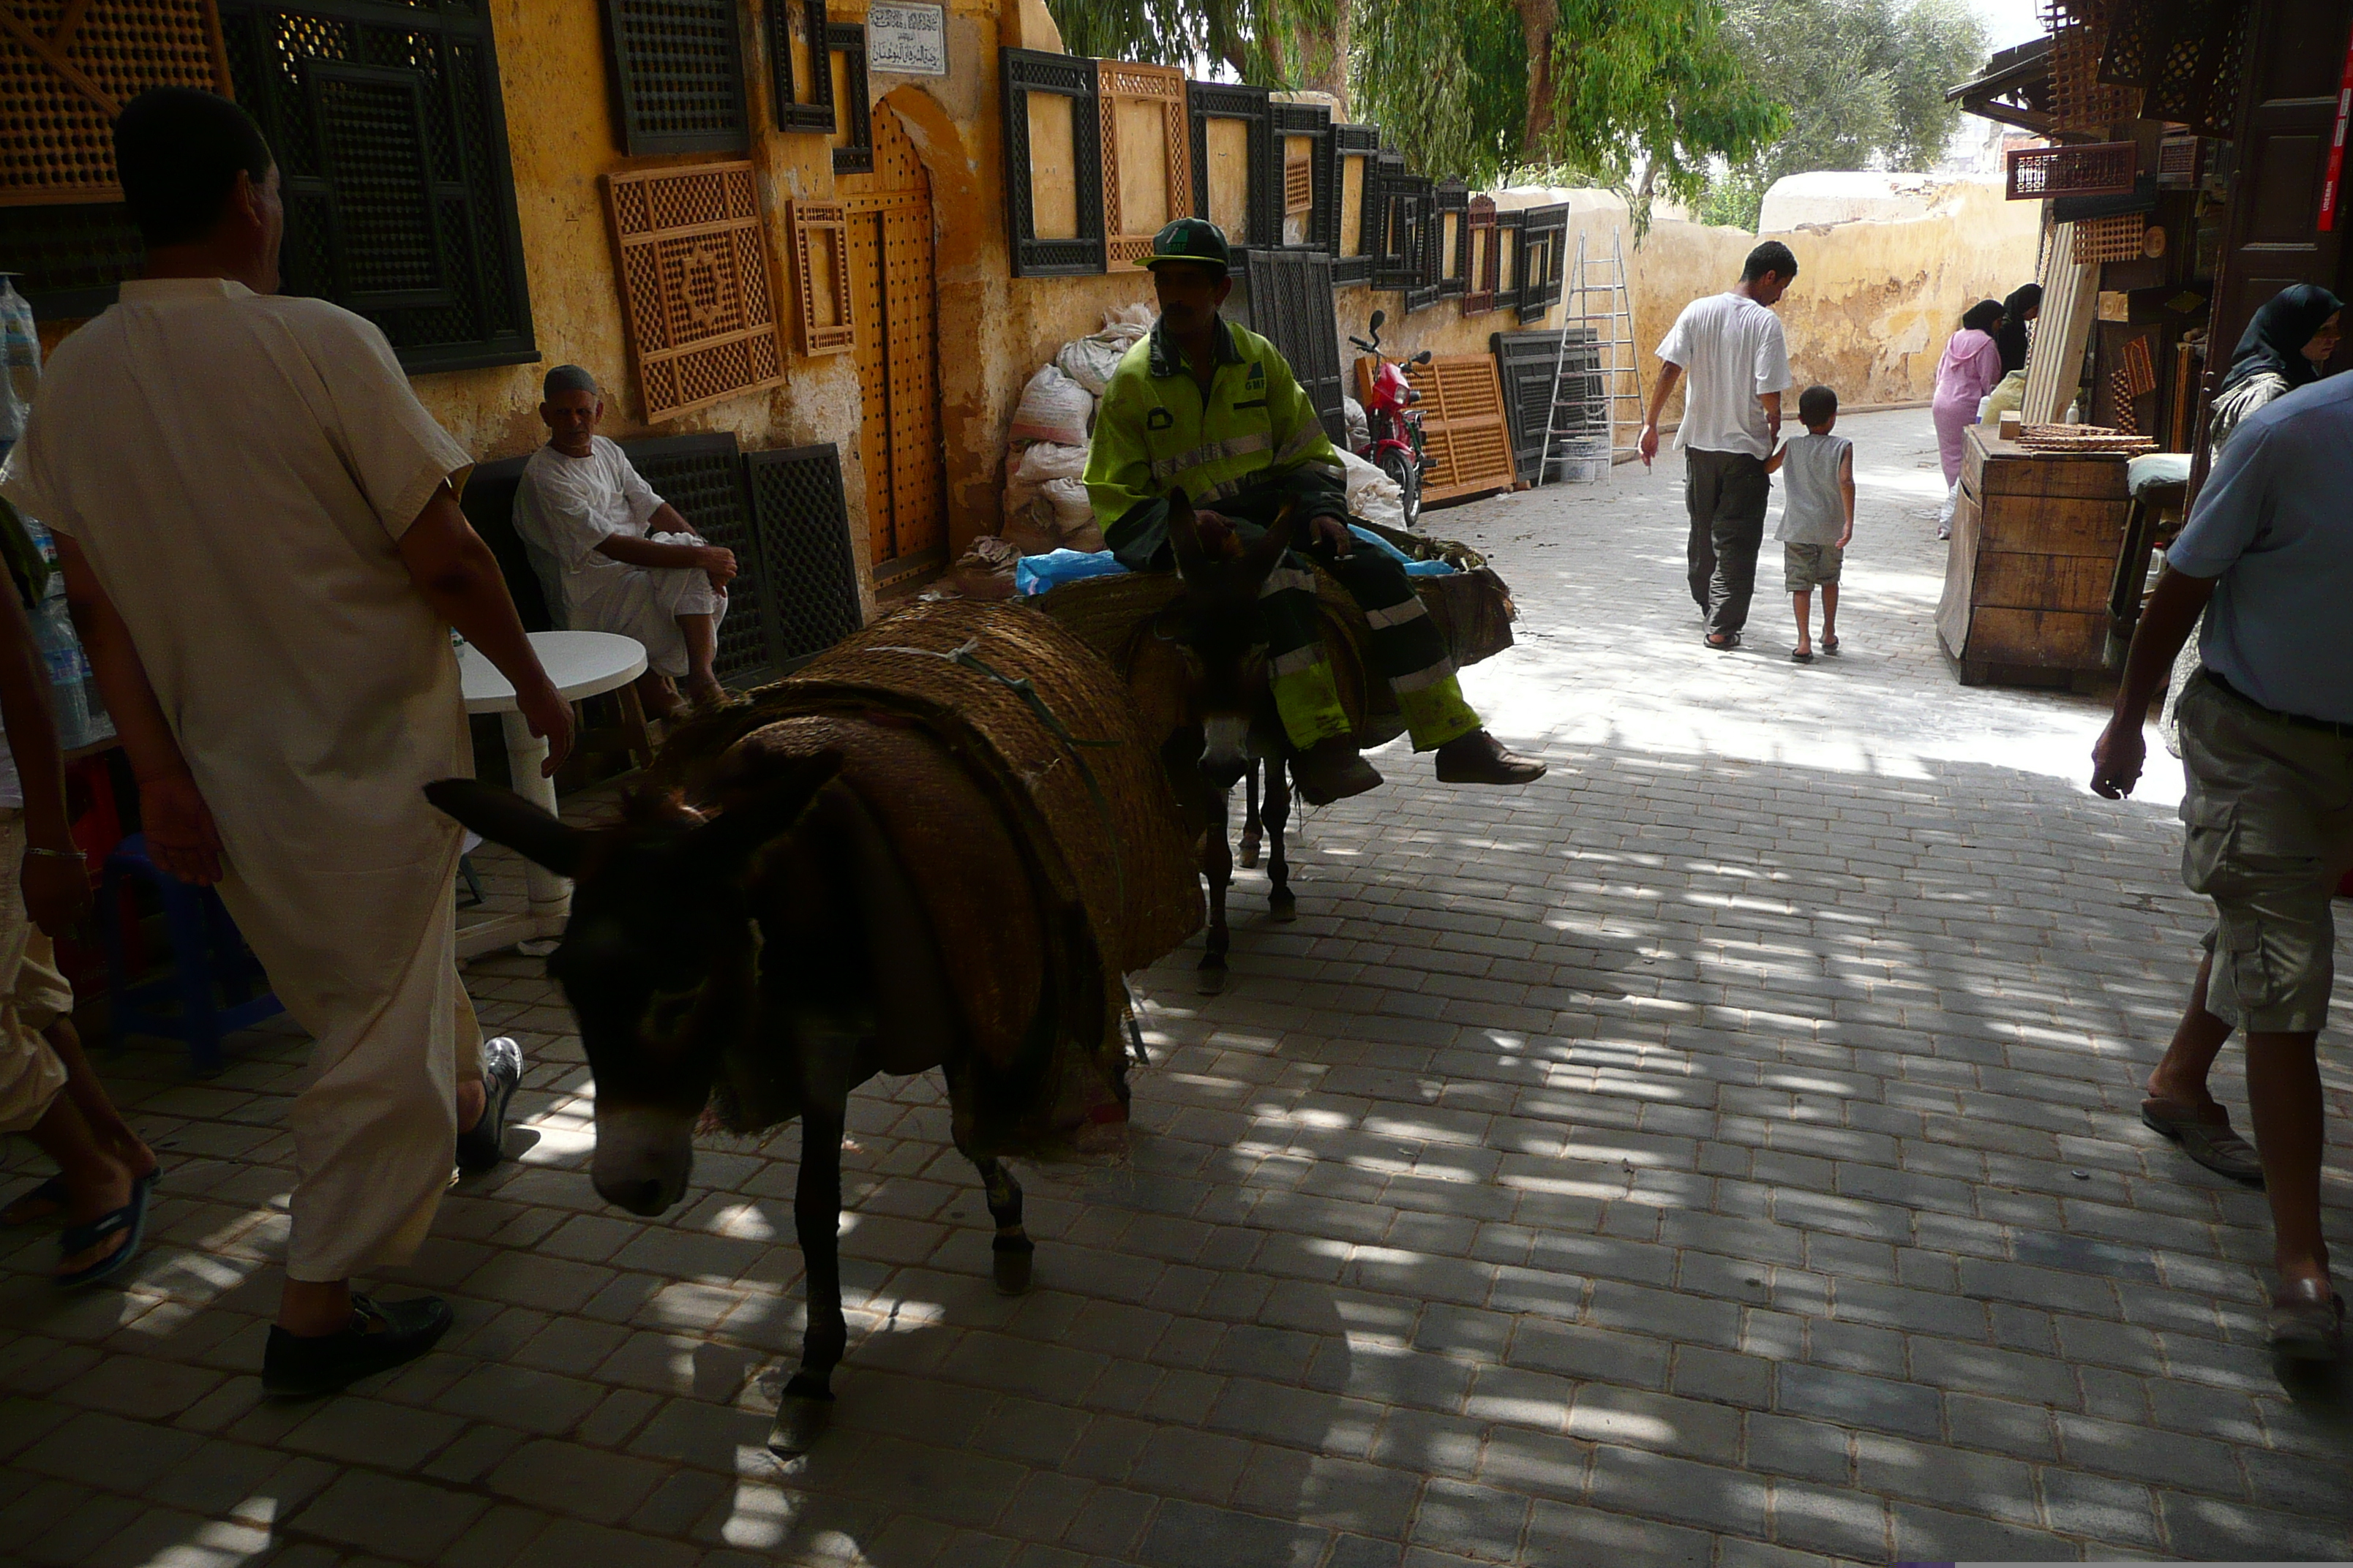
[[536, 1145], [400, 1279], [459, 1328], [322, 1403], [254, 1378], [301, 1041], [209, 1081], [104, 1058], [169, 1161], [160, 1237], [71, 1300], [35, 1279], [49, 1237], [9, 1239], [0, 1554], [2353, 1554], [2344, 1394], [2289, 1399], [2264, 1352], [2261, 1199], [2134, 1114], [2200, 929], [2167, 780], [2099, 802], [2094, 701], [1953, 682], [1927, 414], [1847, 430], [1847, 651], [1809, 668], [1772, 545], [1751, 646], [1699, 646], [1666, 468], [1435, 512], [1518, 588], [1520, 649], [1468, 689], [1551, 778], [1447, 790], [1391, 750], [1386, 790], [1308, 818], [1294, 926], [1245, 875], [1226, 997], [1188, 954], [1141, 976], [1132, 1161], [1028, 1178], [1024, 1300], [988, 1288], [934, 1086], [861, 1093], [854, 1342], [807, 1460], [760, 1446], [798, 1131], [706, 1150], [666, 1222], [600, 1208], [536, 964], [471, 976], [534, 1060]]

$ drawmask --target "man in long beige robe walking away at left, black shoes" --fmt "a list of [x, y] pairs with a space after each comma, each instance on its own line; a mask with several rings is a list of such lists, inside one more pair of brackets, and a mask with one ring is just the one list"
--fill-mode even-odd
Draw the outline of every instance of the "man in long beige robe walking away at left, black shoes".
[[572, 715], [456, 508], [466, 451], [374, 324], [278, 294], [285, 209], [252, 118], [141, 94], [115, 165], [146, 270], [59, 346], [0, 489], [59, 536], [148, 851], [219, 884], [318, 1039], [264, 1385], [322, 1394], [447, 1331], [445, 1302], [351, 1279], [416, 1251], [459, 1126], [496, 1138], [520, 1072], [504, 1041], [480, 1077], [459, 827], [424, 799], [473, 771], [449, 628], [515, 684], [551, 769]]

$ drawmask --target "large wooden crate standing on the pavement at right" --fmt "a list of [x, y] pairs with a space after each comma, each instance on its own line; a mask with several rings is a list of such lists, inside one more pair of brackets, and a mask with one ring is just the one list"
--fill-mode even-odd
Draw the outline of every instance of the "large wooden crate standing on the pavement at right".
[[1962, 684], [2068, 684], [2101, 668], [2127, 505], [2122, 458], [2033, 456], [1967, 433], [1937, 609]]

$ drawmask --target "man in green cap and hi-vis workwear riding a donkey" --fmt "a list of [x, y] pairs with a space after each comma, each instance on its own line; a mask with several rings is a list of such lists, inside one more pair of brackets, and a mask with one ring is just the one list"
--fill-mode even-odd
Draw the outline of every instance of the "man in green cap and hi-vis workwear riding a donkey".
[[1398, 696], [1414, 750], [1438, 752], [1442, 783], [1544, 778], [1541, 762], [1504, 750], [1464, 703], [1445, 637], [1405, 569], [1355, 548], [1339, 456], [1292, 367], [1273, 343], [1217, 310], [1233, 292], [1231, 261], [1224, 230], [1207, 219], [1176, 219], [1144, 259], [1160, 320], [1104, 388], [1087, 451], [1087, 498], [1106, 543], [1132, 571], [1165, 571], [1174, 564], [1169, 491], [1198, 508], [1193, 524], [1207, 555], [1238, 552], [1297, 505], [1308, 543], [1268, 574], [1259, 616], [1292, 776], [1311, 804], [1362, 795], [1381, 776], [1355, 750], [1304, 557], [1365, 611], [1372, 663]]

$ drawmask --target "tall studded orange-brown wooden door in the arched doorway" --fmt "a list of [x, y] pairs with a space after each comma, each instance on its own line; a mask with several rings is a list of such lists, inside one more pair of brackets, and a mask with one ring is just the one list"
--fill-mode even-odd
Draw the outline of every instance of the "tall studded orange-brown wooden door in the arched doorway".
[[859, 341], [859, 458], [875, 588], [946, 564], [939, 444], [939, 301], [932, 181], [889, 106], [873, 115], [873, 174], [838, 181], [849, 219]]

